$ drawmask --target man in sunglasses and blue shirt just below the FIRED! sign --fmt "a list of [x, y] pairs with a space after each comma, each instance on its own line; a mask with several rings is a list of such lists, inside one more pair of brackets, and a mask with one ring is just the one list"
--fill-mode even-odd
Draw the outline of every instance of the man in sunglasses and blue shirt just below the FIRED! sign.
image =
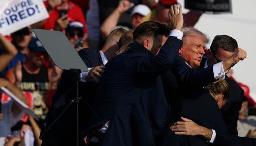
[[15, 77], [11, 76], [14, 67], [20, 61], [23, 63], [26, 59], [25, 53], [28, 51], [28, 44], [31, 40], [32, 34], [30, 27], [22, 28], [11, 34], [12, 44], [18, 49], [19, 53], [11, 60], [8, 66], [0, 73], [0, 77], [7, 77], [11, 83], [15, 83]]

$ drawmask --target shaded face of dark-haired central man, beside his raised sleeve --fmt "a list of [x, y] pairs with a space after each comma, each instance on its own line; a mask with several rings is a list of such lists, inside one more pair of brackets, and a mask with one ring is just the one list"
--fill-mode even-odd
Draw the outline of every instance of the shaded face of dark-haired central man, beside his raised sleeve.
[[157, 55], [160, 51], [160, 48], [165, 44], [167, 37], [163, 35], [155, 36], [153, 43], [150, 45], [150, 52], [153, 55]]

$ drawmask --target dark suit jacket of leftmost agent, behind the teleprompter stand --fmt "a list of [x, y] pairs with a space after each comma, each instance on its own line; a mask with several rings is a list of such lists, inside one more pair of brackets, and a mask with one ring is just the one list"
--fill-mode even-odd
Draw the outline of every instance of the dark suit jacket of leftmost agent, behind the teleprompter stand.
[[[100, 53], [95, 49], [84, 48], [78, 51], [78, 54], [87, 67], [103, 65]], [[91, 80], [85, 83], [78, 82], [78, 97], [82, 98], [79, 102], [79, 129], [81, 130], [88, 124], [89, 114], [92, 112], [88, 104], [93, 106], [96, 90], [97, 84]], [[75, 103], [71, 104], [71, 102], [75, 97], [75, 74], [64, 70], [56, 93], [53, 95], [52, 107], [44, 120], [45, 124], [41, 126], [41, 140], [53, 146], [74, 145], [76, 114]], [[57, 119], [59, 115], [61, 116]]]

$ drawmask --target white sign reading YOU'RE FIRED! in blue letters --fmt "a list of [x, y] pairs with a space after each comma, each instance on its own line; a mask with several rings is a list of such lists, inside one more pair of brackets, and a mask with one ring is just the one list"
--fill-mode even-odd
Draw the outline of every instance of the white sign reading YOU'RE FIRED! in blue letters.
[[48, 17], [42, 0], [0, 0], [2, 35], [9, 35]]

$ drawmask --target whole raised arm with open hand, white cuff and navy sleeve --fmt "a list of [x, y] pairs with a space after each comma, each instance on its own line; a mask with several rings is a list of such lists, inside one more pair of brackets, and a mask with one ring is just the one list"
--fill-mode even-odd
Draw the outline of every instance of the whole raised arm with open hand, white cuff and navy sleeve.
[[[182, 8], [180, 6], [179, 12], [177, 6], [171, 6], [169, 11], [169, 26], [175, 28], [175, 30], [181, 30], [183, 25]], [[125, 60], [125, 66], [130, 73], [137, 72], [157, 72], [161, 74], [167, 71], [172, 66], [175, 57], [178, 55], [178, 50], [181, 48], [183, 42], [177, 39], [175, 35], [175, 30], [172, 30], [169, 38], [165, 44], [160, 49], [159, 53], [153, 57], [138, 57], [134, 56]], [[136, 30], [135, 30], [136, 31]], [[182, 33], [183, 34], [183, 33]], [[181, 35], [183, 36], [183, 35]], [[182, 38], [182, 37], [181, 37]], [[143, 47], [143, 46], [141, 46]]]

